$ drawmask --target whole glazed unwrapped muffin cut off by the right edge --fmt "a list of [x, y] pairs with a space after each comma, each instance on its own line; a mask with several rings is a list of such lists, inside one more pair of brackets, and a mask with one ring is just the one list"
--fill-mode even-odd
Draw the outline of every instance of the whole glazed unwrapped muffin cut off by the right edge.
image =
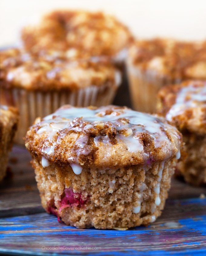
[[159, 92], [159, 113], [183, 134], [186, 154], [177, 174], [193, 185], [206, 184], [206, 81], [189, 80]]

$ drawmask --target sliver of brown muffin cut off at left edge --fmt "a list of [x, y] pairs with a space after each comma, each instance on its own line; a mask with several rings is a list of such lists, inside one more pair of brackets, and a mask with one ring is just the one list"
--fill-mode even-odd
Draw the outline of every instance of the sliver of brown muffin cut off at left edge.
[[12, 149], [17, 122], [17, 109], [0, 105], [0, 181], [6, 174], [8, 153]]

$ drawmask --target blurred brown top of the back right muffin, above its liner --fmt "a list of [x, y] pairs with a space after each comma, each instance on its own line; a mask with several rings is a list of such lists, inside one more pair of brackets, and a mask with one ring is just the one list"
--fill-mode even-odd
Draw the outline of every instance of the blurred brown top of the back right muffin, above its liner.
[[128, 63], [174, 80], [206, 79], [206, 41], [136, 41], [129, 49]]

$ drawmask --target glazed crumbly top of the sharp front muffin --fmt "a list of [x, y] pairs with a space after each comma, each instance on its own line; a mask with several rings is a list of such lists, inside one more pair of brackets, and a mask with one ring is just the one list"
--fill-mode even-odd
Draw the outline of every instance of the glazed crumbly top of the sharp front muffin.
[[82, 165], [105, 170], [165, 161], [179, 155], [180, 144], [181, 134], [164, 119], [113, 105], [65, 105], [36, 119], [25, 137], [26, 147], [42, 165], [69, 163], [77, 174]]

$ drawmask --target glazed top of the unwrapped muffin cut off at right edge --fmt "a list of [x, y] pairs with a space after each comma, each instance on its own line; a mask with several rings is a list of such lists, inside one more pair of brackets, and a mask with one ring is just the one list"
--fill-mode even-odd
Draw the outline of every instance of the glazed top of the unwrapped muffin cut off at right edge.
[[159, 92], [159, 113], [180, 130], [206, 134], [206, 81], [189, 80]]

